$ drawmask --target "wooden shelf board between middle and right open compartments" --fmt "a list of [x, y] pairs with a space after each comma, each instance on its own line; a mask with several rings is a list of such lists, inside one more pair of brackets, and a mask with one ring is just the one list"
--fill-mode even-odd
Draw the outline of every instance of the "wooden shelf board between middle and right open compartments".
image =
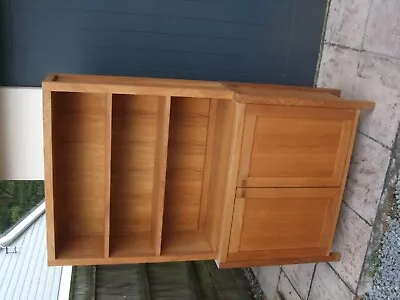
[[170, 113], [171, 97], [167, 96], [165, 98], [161, 98], [157, 112], [157, 142], [154, 162], [154, 194], [152, 203], [153, 215], [151, 224], [152, 238], [156, 256], [161, 254]]

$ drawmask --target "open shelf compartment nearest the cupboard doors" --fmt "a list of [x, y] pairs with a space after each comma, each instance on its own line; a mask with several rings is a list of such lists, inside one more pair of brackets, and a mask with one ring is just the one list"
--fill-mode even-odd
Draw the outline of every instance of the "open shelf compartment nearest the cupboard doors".
[[211, 99], [172, 97], [161, 255], [214, 257], [205, 230], [213, 124]]

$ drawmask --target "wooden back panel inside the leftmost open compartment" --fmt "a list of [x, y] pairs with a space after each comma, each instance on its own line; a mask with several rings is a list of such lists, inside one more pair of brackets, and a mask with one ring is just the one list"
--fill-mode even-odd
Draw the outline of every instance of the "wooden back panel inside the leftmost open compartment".
[[104, 232], [105, 112], [104, 94], [52, 94], [55, 223], [63, 235]]

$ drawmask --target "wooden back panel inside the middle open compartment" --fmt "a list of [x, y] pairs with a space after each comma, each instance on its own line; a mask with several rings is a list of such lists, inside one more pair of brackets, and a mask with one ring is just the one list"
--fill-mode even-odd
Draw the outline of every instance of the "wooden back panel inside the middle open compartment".
[[151, 231], [161, 97], [113, 95], [110, 232]]

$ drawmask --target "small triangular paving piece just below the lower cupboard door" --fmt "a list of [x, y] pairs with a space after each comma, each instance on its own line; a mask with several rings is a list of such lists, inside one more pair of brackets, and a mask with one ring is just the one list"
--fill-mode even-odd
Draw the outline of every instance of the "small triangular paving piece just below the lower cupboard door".
[[283, 271], [302, 299], [306, 299], [310, 290], [315, 264], [283, 266]]

